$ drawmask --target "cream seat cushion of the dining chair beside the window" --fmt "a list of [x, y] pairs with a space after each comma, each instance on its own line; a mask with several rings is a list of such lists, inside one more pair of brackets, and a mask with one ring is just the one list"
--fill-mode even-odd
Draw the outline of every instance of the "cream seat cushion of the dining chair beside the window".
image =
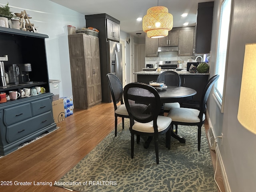
[[[190, 108], [173, 108], [168, 113], [168, 117], [172, 118], [172, 121], [184, 122], [184, 123], [197, 123], [200, 122], [198, 118], [199, 110]], [[203, 114], [203, 120], [205, 115]]]

